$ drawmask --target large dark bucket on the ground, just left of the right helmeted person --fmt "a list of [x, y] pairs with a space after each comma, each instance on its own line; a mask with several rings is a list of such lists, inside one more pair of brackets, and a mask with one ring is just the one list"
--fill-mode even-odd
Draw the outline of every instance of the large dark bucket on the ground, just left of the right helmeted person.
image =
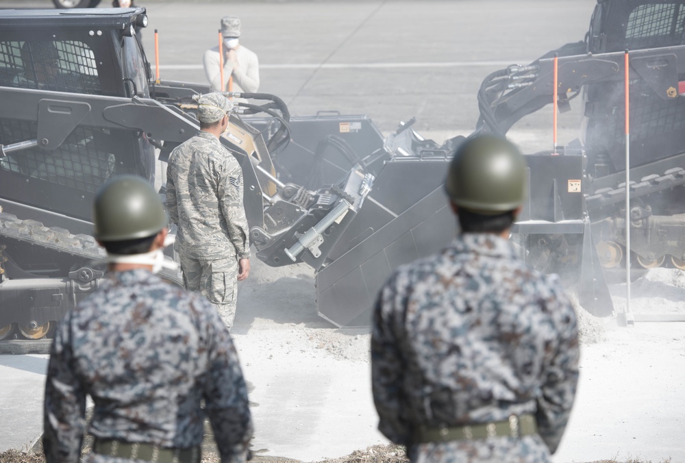
[[316, 274], [319, 315], [369, 327], [379, 289], [401, 264], [435, 253], [456, 234], [443, 189], [449, 158], [391, 158]]

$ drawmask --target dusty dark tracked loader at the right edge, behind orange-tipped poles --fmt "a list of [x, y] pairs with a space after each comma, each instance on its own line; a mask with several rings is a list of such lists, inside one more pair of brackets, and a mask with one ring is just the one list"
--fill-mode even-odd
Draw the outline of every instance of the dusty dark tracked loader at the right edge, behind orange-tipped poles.
[[581, 138], [528, 156], [530, 200], [513, 232], [530, 264], [575, 281], [596, 315], [612, 314], [612, 271], [685, 268], [684, 26], [684, 1], [599, 0], [584, 40], [489, 75], [478, 94], [476, 133], [502, 135], [545, 105], [580, 100]]

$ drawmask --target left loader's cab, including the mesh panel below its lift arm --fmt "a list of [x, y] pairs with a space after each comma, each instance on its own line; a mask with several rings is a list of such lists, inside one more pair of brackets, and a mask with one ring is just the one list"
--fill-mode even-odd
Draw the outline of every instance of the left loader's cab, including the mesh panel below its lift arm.
[[[36, 139], [40, 111], [38, 118], [17, 111], [27, 101], [36, 105], [36, 95], [149, 97], [151, 73], [136, 33], [144, 23], [144, 8], [0, 12], [0, 143]], [[0, 199], [88, 221], [99, 186], [122, 173], [153, 181], [154, 148], [145, 134], [78, 125], [56, 149], [39, 145], [0, 158]]]

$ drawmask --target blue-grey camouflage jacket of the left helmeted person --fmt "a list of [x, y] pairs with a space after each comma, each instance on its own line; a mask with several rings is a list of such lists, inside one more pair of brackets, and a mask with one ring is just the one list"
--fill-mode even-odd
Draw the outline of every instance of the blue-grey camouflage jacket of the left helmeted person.
[[48, 463], [79, 460], [87, 394], [98, 438], [187, 449], [201, 445], [208, 415], [221, 461], [247, 458], [253, 425], [229, 332], [206, 299], [149, 271], [111, 273], [60, 323], [45, 384]]

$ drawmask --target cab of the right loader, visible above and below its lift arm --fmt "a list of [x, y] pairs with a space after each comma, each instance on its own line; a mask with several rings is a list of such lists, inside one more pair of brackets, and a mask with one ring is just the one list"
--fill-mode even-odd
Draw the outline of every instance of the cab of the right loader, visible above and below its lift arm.
[[[651, 56], [668, 55], [669, 47], [685, 44], [685, 0], [599, 0], [587, 42], [595, 54], [650, 49]], [[635, 68], [631, 79], [631, 167], [682, 153], [685, 100], [657, 94]], [[584, 88], [588, 172], [595, 178], [625, 170], [624, 98], [623, 88], [612, 82]]]

